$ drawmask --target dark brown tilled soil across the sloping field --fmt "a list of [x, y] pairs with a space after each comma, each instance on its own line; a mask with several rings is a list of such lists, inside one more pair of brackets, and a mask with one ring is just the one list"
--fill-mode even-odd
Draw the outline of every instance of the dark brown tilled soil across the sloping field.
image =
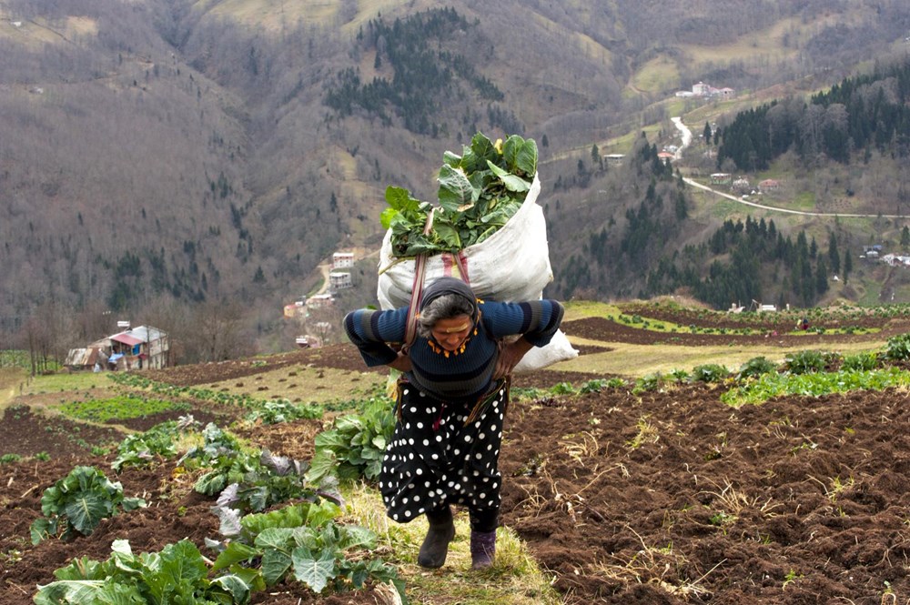
[[[693, 317], [680, 318], [688, 324]], [[571, 337], [654, 338], [603, 319], [567, 322]], [[665, 338], [665, 335], [663, 335]], [[701, 338], [730, 335], [679, 335]], [[755, 338], [755, 337], [743, 337]], [[761, 338], [761, 337], [758, 337]], [[836, 342], [813, 338], [812, 348]], [[846, 338], [846, 337], [840, 337]], [[710, 344], [715, 344], [714, 339]], [[801, 340], [808, 343], [808, 340]], [[708, 344], [702, 342], [702, 344]], [[583, 352], [583, 351], [582, 351]], [[363, 370], [349, 346], [296, 351], [293, 363]], [[270, 368], [274, 365], [269, 364]], [[157, 375], [179, 384], [247, 376], [249, 363]], [[379, 370], [381, 371], [381, 370]], [[170, 377], [170, 378], [169, 378]], [[515, 385], [579, 385], [591, 375], [541, 371]], [[602, 377], [597, 377], [602, 378]], [[904, 604], [910, 600], [910, 397], [905, 391], [777, 398], [730, 408], [720, 388], [623, 388], [513, 402], [501, 452], [503, 524], [515, 529], [569, 603]], [[0, 451], [50, 459], [0, 465], [0, 602], [32, 602], [36, 584], [73, 557], [106, 560], [113, 539], [134, 552], [217, 534], [213, 502], [195, 494], [173, 461], [116, 477], [147, 509], [105, 521], [91, 536], [32, 546], [41, 495], [76, 464], [109, 469], [86, 445], [123, 432], [21, 407], [0, 422]], [[156, 418], [157, 419], [157, 418]], [[245, 437], [305, 459], [319, 422], [258, 427]], [[78, 435], [77, 439], [67, 436]], [[113, 473], [109, 476], [114, 477]], [[392, 558], [394, 555], [391, 556]], [[256, 602], [375, 603], [369, 590], [315, 599], [300, 584]]]

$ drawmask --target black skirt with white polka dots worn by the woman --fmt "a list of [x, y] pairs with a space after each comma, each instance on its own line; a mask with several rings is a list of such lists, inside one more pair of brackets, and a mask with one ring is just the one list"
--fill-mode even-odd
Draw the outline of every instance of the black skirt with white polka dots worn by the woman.
[[498, 461], [509, 386], [501, 381], [477, 405], [451, 405], [399, 384], [399, 419], [379, 474], [389, 518], [406, 523], [458, 504], [500, 506]]

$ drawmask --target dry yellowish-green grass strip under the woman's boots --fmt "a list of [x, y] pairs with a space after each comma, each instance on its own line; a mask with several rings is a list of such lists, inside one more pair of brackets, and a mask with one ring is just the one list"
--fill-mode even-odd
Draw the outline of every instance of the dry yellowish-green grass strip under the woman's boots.
[[385, 560], [398, 566], [413, 603], [471, 603], [473, 605], [555, 605], [561, 597], [551, 589], [550, 579], [515, 533], [500, 528], [496, 540], [496, 560], [489, 570], [470, 570], [467, 513], [455, 515], [455, 539], [446, 564], [440, 570], [424, 570], [417, 564], [420, 543], [427, 532], [423, 518], [399, 524], [386, 517], [376, 489], [362, 483], [345, 489], [346, 516], [376, 532], [381, 548], [392, 554]]

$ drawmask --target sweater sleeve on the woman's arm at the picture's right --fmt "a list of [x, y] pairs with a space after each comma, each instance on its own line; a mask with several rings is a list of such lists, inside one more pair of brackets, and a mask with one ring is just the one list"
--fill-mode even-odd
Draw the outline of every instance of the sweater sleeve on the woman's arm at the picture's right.
[[484, 326], [493, 338], [521, 334], [535, 347], [548, 345], [560, 328], [564, 309], [548, 298], [519, 303], [487, 302], [480, 305]]

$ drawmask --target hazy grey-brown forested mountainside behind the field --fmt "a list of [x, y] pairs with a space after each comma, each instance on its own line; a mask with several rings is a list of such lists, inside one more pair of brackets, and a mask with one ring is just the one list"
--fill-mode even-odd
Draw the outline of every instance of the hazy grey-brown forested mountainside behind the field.
[[[754, 111], [802, 133], [806, 93], [899, 55], [907, 35], [910, 8], [887, 0], [0, 0], [0, 336], [65, 348], [117, 317], [181, 334], [187, 359], [278, 346], [281, 307], [319, 285], [320, 262], [379, 247], [385, 188], [432, 200], [443, 152], [477, 131], [538, 141], [554, 296], [700, 292], [718, 272], [742, 274], [725, 265], [742, 243], [713, 234], [753, 227], [706, 211], [658, 160], [668, 118], [710, 108], [667, 100], [699, 81], [743, 98], [779, 89]], [[862, 88], [892, 107], [905, 98], [895, 86], [822, 93], [813, 146], [778, 138], [773, 154], [826, 160], [824, 128], [849, 120], [846, 96]], [[737, 151], [746, 118], [730, 112], [720, 162], [779, 161]], [[905, 131], [898, 120], [889, 132]], [[901, 156], [899, 136], [871, 136], [871, 147], [853, 137], [852, 161], [859, 148], [874, 165]], [[628, 161], [611, 166], [608, 153]], [[901, 190], [876, 191], [894, 207]], [[802, 249], [791, 226], [775, 229]], [[812, 258], [813, 275], [830, 268]], [[749, 260], [759, 272], [779, 262]], [[372, 302], [375, 262], [360, 261], [346, 304]], [[199, 344], [224, 326], [232, 338]]]

